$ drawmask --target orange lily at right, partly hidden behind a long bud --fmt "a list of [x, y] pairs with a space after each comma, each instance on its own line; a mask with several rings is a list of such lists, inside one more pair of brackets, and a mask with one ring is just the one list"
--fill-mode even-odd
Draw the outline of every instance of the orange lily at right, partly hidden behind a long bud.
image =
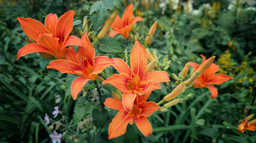
[[[200, 64], [201, 66], [204, 63], [204, 61], [206, 61], [206, 57], [204, 57], [204, 55], [200, 55], [200, 56], [203, 58], [203, 61]], [[188, 62], [188, 64], [194, 67], [195, 70], [197, 70], [198, 67], [200, 67], [194, 62]], [[195, 79], [195, 81], [193, 82], [194, 88], [208, 88], [211, 92], [210, 98], [216, 98], [218, 95], [218, 91], [215, 87], [211, 85], [221, 85], [227, 80], [234, 79], [231, 76], [227, 76], [222, 73], [216, 73], [218, 68], [219, 66], [217, 66], [216, 64], [211, 64], [210, 67], [206, 71], [204, 71], [203, 74], [201, 74], [201, 76]]]

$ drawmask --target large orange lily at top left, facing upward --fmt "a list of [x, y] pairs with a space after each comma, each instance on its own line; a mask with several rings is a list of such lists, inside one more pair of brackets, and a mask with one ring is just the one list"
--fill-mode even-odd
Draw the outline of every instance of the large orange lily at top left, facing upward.
[[51, 59], [66, 58], [66, 46], [78, 45], [84, 46], [81, 39], [76, 36], [68, 36], [73, 30], [73, 18], [75, 12], [68, 11], [62, 15], [59, 20], [56, 14], [48, 14], [44, 25], [32, 18], [18, 17], [22, 29], [26, 36], [35, 43], [28, 43], [17, 52], [17, 59], [26, 54], [39, 52], [44, 57]]

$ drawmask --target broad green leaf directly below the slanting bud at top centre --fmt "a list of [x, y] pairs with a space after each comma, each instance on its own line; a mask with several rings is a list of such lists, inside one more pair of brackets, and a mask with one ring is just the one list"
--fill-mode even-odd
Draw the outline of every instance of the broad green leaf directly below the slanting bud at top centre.
[[121, 45], [114, 38], [103, 38], [101, 40], [102, 45], [100, 51], [103, 52], [123, 52]]

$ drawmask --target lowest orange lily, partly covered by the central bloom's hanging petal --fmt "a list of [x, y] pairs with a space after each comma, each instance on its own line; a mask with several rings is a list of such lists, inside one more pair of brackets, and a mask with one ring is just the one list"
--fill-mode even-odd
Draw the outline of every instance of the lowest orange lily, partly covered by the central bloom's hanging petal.
[[134, 122], [144, 136], [147, 137], [152, 134], [152, 126], [149, 120], [147, 120], [147, 117], [161, 107], [155, 102], [146, 102], [147, 97], [149, 97], [148, 95], [137, 97], [137, 101], [132, 104], [131, 111], [125, 111], [122, 101], [114, 98], [106, 98], [104, 105], [119, 111], [109, 125], [109, 139], [123, 135], [127, 130], [128, 123], [132, 125]]

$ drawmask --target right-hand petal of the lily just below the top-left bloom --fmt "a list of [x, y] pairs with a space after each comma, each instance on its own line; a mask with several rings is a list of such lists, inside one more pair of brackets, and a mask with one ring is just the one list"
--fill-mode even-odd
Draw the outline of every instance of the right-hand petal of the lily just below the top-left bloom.
[[106, 69], [107, 67], [111, 66], [114, 63], [115, 62], [111, 60], [109, 57], [105, 57], [105, 56], [96, 57], [94, 69], [92, 70], [92, 73], [89, 74], [89, 77], [92, 78], [93, 76], [95, 76], [94, 74], [101, 73], [101, 71], [103, 71], [104, 69]]

